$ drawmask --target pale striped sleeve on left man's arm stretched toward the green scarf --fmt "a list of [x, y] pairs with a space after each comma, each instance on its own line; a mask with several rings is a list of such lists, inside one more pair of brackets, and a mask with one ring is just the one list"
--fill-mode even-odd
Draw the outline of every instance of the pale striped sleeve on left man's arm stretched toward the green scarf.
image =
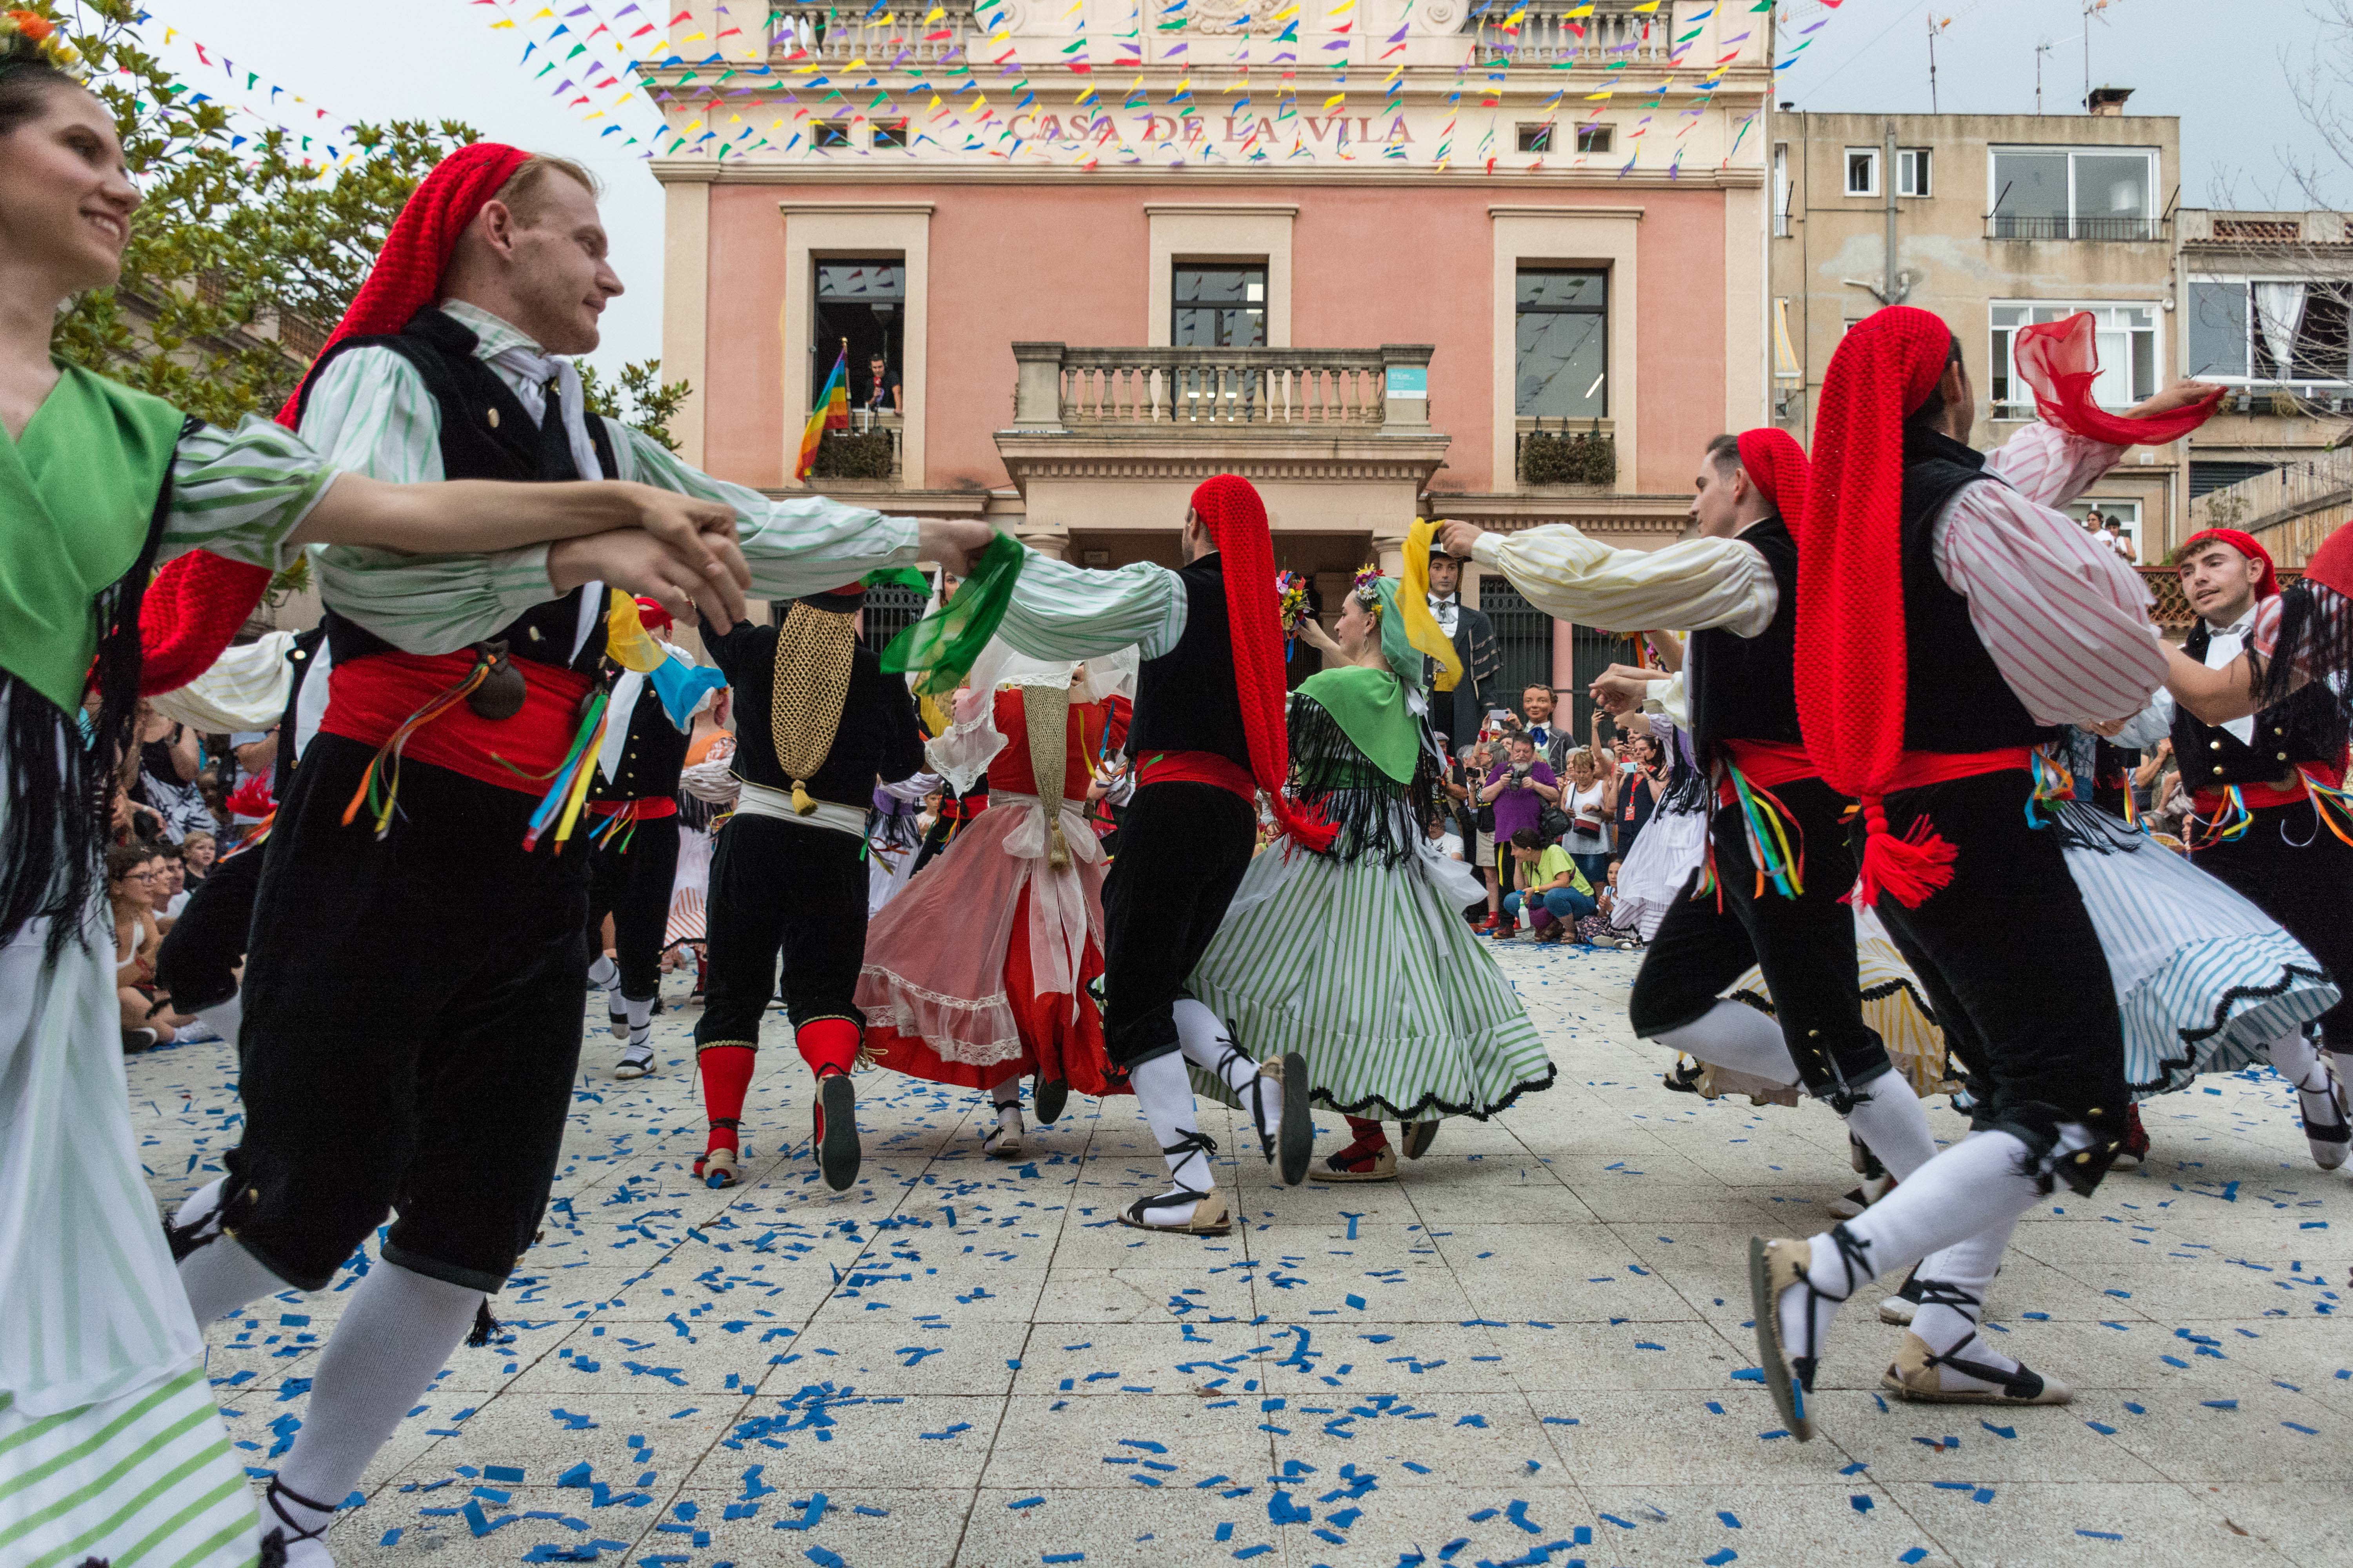
[[607, 418], [605, 433], [612, 437], [614, 465], [624, 480], [734, 508], [751, 588], [760, 597], [798, 599], [805, 592], [840, 588], [868, 571], [915, 564], [913, 517], [885, 517], [873, 508], [826, 496], [769, 498], [748, 484], [713, 480], [642, 430]]

